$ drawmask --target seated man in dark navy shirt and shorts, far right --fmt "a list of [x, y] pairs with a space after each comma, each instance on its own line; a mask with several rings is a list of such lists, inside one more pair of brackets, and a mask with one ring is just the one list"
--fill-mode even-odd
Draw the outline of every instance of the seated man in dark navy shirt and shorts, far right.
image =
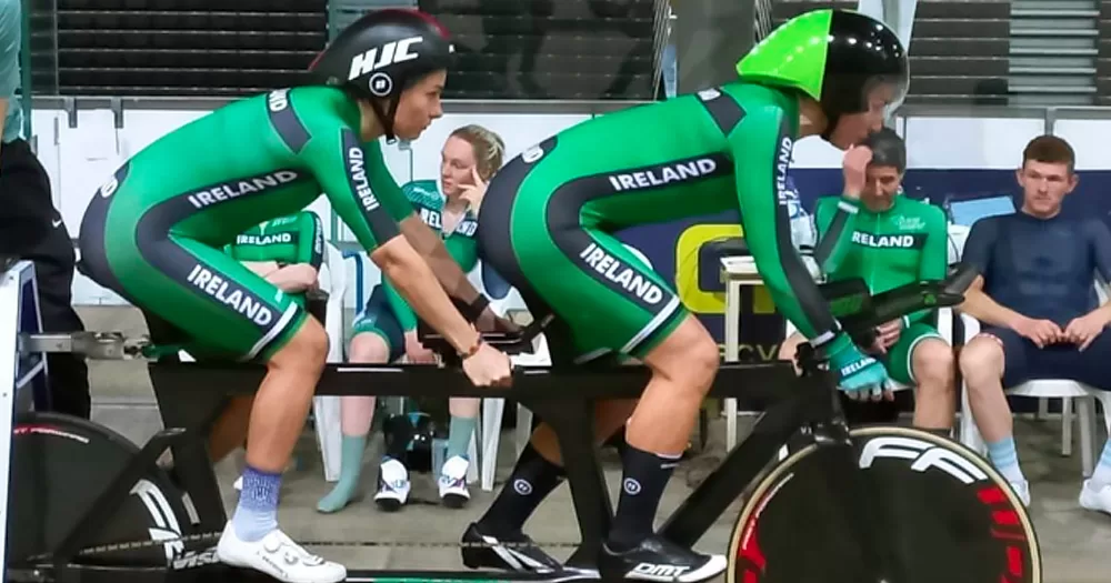
[[[1014, 451], [1003, 388], [1032, 379], [1070, 379], [1111, 389], [1111, 303], [1099, 305], [1097, 273], [1111, 282], [1111, 231], [1100, 217], [1061, 217], [1077, 187], [1075, 157], [1064, 140], [1035, 138], [1017, 175], [1022, 208], [978, 221], [962, 259], [981, 275], [961, 310], [983, 329], [960, 355], [969, 403], [992, 465], [1030, 503]], [[1080, 492], [1080, 505], [1111, 513], [1111, 441]]]

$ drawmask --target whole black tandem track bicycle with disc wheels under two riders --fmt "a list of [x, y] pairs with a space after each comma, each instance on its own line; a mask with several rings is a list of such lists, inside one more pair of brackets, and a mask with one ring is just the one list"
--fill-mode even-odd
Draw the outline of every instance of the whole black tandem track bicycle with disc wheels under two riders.
[[[973, 277], [973, 271], [958, 265], [943, 281], [913, 283], [874, 296], [862, 282], [827, 284], [823, 291], [838, 306], [842, 326], [865, 342], [879, 323], [960, 303]], [[539, 318], [519, 333], [489, 334], [487, 341], [508, 353], [528, 352], [532, 339], [550, 331], [553, 322], [551, 315]], [[142, 343], [128, 348], [118, 334], [74, 338], [70, 350], [107, 358], [150, 349]], [[28, 340], [28, 345], [42, 348], [33, 338]], [[441, 338], [426, 334], [422, 342], [441, 352], [447, 364], [330, 364], [318, 394], [492, 396], [492, 390], [470, 385], [451, 364], [454, 351]], [[727, 549], [728, 583], [1042, 581], [1030, 519], [985, 460], [953, 441], [914, 429], [848, 428], [835, 378], [824, 359], [805, 344], [799, 354], [798, 375], [785, 362], [722, 365], [711, 394], [739, 398], [747, 408], [765, 412], [751, 434], [660, 526], [664, 536], [693, 545], [741, 500]], [[206, 430], [224, 400], [256, 390], [264, 369], [156, 361], [149, 370], [167, 429], [142, 448], [87, 421], [19, 413], [9, 470], [9, 580], [264, 579], [216, 560], [214, 544], [227, 514], [204, 450]], [[528, 368], [514, 371], [512, 389], [494, 395], [521, 402], [559, 436], [581, 535], [571, 543], [574, 551], [567, 561], [573, 569], [550, 573], [352, 569], [349, 581], [598, 579], [592, 567], [612, 505], [594, 436], [583, 428], [591, 426], [594, 401], [635, 396], [647, 380], [642, 366]], [[780, 460], [778, 454], [788, 443], [791, 453]], [[156, 464], [168, 448], [173, 451], [178, 482]]]

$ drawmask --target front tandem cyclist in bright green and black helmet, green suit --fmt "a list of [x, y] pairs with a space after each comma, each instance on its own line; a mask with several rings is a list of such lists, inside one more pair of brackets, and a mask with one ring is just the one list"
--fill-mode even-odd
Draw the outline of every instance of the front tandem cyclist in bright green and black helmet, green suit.
[[[483, 201], [480, 255], [533, 315], [559, 315], [546, 332], [553, 364], [632, 356], [652, 371], [639, 402], [597, 408], [594, 434], [604, 440], [625, 425], [629, 445], [598, 562], [603, 576], [693, 582], [725, 567], [724, 556], [679, 547], [653, 530], [717, 372], [718, 344], [615, 232], [739, 209], [775, 304], [829, 355], [842, 390], [870, 395], [887, 380], [839, 329], [798, 257], [784, 181], [797, 140], [819, 135], [849, 149], [882, 128], [907, 92], [905, 50], [867, 16], [815, 10], [769, 34], [737, 71], [721, 87], [594, 118], [527, 149], [494, 175]], [[487, 545], [464, 546], [464, 564], [560, 569], [522, 526], [562, 478], [554, 433], [540, 425], [507, 487], [463, 535]]]

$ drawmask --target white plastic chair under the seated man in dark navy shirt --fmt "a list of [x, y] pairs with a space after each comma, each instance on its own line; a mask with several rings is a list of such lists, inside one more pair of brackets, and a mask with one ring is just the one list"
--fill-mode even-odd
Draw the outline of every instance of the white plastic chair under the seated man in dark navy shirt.
[[[1102, 282], [1095, 283], [1095, 292], [1100, 302], [1107, 301], [1107, 293]], [[964, 338], [971, 340], [980, 333], [980, 322], [968, 315], [961, 314], [964, 324]], [[1103, 405], [1103, 424], [1111, 435], [1111, 392], [1095, 389], [1088, 384], [1069, 381], [1064, 379], [1039, 379], [1027, 381], [1011, 388], [1004, 388], [1009, 396], [1029, 396], [1040, 399], [1038, 416], [1044, 416], [1048, 411], [1050, 399], [1061, 400], [1061, 455], [1072, 455], [1072, 412], [1077, 411], [1080, 424], [1080, 460], [1084, 476], [1090, 476], [1094, 469], [1094, 452], [1099, 449], [1098, 432], [1095, 431], [1095, 400]], [[961, 383], [961, 430], [960, 440], [965, 446], [979, 452], [987, 453], [987, 444], [980, 435], [980, 429], [972, 419], [969, 406], [968, 385]]]

